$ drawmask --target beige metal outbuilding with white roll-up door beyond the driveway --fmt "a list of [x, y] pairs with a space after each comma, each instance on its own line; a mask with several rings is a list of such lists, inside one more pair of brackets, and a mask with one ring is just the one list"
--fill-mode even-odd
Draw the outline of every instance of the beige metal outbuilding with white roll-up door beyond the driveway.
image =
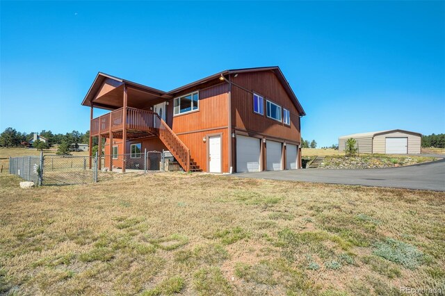
[[355, 139], [359, 153], [377, 154], [420, 154], [421, 133], [392, 129], [389, 131], [371, 131], [354, 133], [339, 137], [339, 151], [345, 151], [346, 141]]

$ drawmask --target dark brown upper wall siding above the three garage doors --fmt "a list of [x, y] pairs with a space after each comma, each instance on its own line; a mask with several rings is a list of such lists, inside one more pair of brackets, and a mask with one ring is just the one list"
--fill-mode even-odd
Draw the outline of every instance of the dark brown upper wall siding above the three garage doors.
[[[241, 73], [231, 80], [264, 97], [264, 115], [253, 112], [253, 94], [232, 85], [232, 126], [240, 131], [300, 143], [300, 120], [296, 106], [273, 72]], [[266, 117], [266, 99], [291, 113], [291, 126]]]

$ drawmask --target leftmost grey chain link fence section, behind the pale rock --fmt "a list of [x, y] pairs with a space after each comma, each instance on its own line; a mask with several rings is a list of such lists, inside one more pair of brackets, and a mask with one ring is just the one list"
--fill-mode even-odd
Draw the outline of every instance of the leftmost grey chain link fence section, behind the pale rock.
[[21, 156], [9, 158], [9, 173], [37, 184], [40, 173], [40, 157]]

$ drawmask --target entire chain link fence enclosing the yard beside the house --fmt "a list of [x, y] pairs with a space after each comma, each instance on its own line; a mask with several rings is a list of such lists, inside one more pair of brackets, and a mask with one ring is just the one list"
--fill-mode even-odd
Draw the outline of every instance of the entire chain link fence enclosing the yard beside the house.
[[36, 185], [71, 185], [106, 181], [122, 172], [162, 172], [163, 152], [102, 156], [41, 155], [10, 158], [9, 172]]

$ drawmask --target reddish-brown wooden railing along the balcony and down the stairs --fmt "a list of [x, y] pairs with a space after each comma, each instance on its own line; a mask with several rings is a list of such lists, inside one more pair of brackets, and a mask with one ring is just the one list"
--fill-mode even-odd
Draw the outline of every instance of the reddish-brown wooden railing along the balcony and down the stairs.
[[[91, 120], [91, 135], [99, 135], [99, 131], [102, 134], [122, 129], [123, 110], [123, 108], [119, 108]], [[181, 167], [186, 172], [190, 170], [190, 150], [157, 113], [127, 107], [126, 128], [135, 131], [147, 131], [158, 136], [165, 147], [175, 156]]]

